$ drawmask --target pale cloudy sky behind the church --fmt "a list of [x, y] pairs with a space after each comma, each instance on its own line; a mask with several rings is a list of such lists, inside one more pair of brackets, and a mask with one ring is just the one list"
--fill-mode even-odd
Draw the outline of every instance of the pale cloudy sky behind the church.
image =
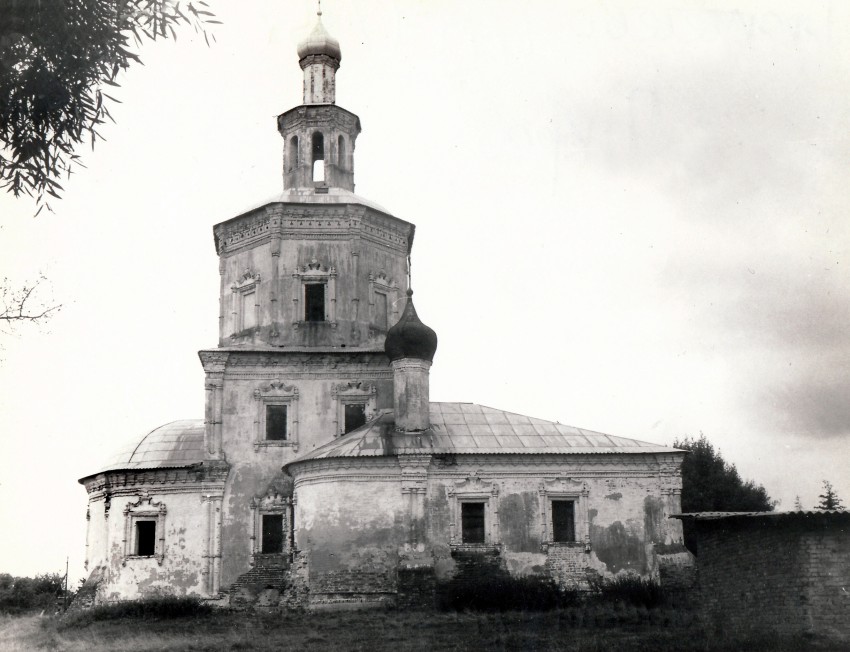
[[[307, 0], [211, 2], [122, 77], [55, 214], [0, 196], [0, 572], [83, 573], [85, 490], [203, 416], [212, 226], [279, 192]], [[433, 400], [662, 444], [704, 432], [791, 509], [850, 504], [850, 4], [325, 0], [357, 192], [417, 225]]]

